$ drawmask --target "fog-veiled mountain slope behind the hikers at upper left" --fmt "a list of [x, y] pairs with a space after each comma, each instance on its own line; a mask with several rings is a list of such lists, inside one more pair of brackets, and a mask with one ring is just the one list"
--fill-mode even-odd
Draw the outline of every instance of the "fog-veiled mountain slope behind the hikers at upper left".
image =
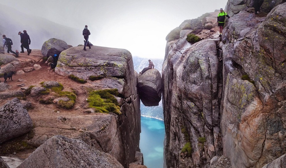
[[[43, 43], [50, 38], [64, 40], [66, 43], [73, 46], [83, 44], [84, 39], [81, 30], [53, 23], [44, 18], [24, 14], [6, 5], [0, 5], [0, 35], [2, 36], [5, 34], [8, 38], [12, 39], [13, 51], [16, 49], [21, 50], [18, 32], [23, 32], [23, 30], [27, 30], [27, 33], [31, 38], [31, 49], [41, 49]], [[5, 49], [5, 52], [7, 52], [7, 49]]]

